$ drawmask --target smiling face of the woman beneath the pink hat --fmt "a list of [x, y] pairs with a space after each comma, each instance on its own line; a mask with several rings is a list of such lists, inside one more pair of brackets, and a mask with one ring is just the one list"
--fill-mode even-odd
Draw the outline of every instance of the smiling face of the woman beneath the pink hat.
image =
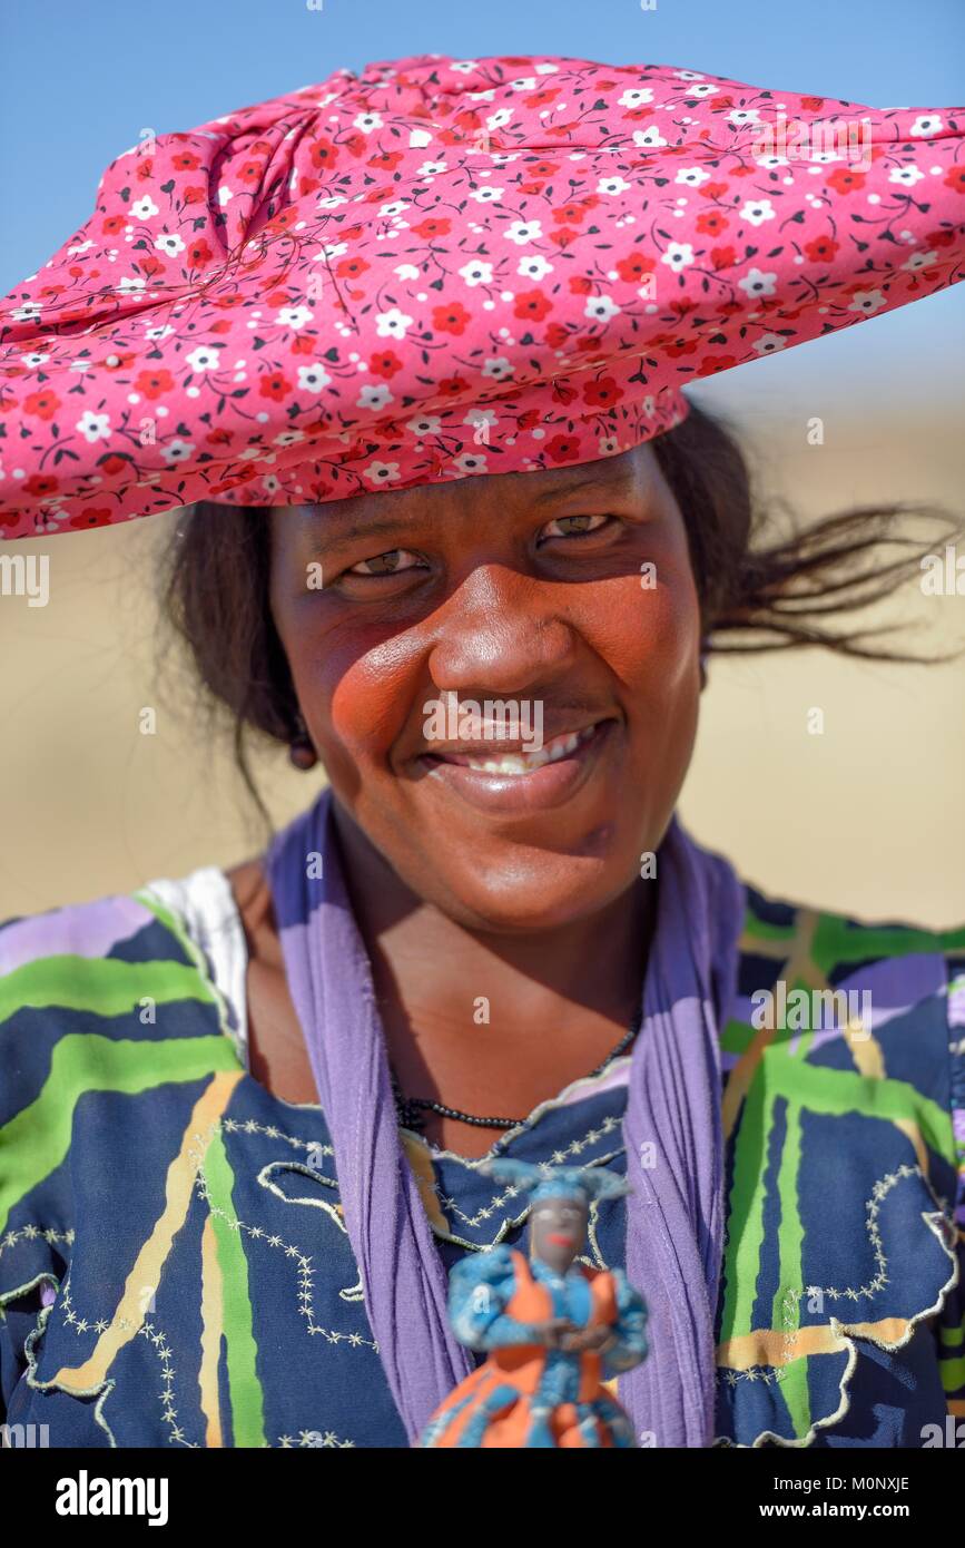
[[411, 892], [515, 932], [626, 890], [670, 822], [701, 692], [687, 533], [653, 449], [271, 520], [308, 731]]

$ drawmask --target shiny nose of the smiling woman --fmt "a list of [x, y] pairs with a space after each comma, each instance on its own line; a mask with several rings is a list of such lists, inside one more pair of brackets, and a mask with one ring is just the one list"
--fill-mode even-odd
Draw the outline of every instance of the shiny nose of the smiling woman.
[[520, 694], [572, 667], [575, 635], [554, 605], [555, 590], [503, 565], [473, 570], [436, 613], [428, 661], [436, 687]]

